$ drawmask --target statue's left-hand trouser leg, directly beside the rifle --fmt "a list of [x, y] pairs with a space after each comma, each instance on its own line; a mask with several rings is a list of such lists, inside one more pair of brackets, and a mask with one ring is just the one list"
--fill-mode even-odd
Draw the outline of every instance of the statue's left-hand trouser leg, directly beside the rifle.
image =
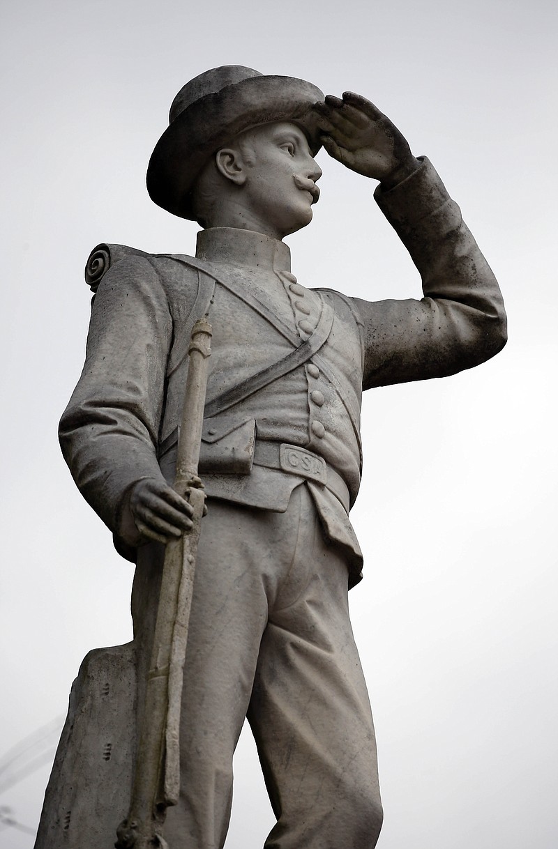
[[165, 826], [172, 849], [220, 849], [228, 829], [233, 753], [268, 621], [258, 539], [270, 514], [252, 513], [216, 501], [203, 522], [184, 664], [180, 800]]

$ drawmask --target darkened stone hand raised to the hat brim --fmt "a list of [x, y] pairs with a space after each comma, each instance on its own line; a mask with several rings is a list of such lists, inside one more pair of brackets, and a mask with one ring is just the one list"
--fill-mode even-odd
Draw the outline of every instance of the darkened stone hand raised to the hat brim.
[[352, 171], [392, 188], [420, 166], [403, 134], [362, 95], [345, 92], [340, 99], [326, 94], [314, 110], [324, 130], [324, 148]]

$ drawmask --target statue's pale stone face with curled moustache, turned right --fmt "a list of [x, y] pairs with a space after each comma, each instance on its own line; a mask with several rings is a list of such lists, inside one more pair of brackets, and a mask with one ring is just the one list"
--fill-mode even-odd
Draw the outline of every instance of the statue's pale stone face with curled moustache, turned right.
[[242, 146], [249, 154], [243, 205], [259, 222], [259, 232], [282, 239], [306, 227], [322, 170], [302, 129], [290, 121], [264, 124], [245, 133]]

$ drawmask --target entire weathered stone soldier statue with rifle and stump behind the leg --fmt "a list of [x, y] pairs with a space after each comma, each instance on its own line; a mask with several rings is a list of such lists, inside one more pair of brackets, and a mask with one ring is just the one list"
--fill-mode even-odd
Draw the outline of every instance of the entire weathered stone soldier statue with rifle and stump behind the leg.
[[[322, 145], [379, 181], [420, 300], [292, 273], [283, 239], [312, 219]], [[347, 609], [362, 391], [493, 357], [498, 284], [431, 163], [357, 94], [209, 70], [174, 99], [147, 186], [203, 229], [195, 256], [99, 245], [87, 265], [87, 357], [60, 441], [136, 563], [134, 638], [82, 664], [37, 849], [219, 849], [246, 716], [277, 817], [268, 849], [372, 849], [375, 735]]]

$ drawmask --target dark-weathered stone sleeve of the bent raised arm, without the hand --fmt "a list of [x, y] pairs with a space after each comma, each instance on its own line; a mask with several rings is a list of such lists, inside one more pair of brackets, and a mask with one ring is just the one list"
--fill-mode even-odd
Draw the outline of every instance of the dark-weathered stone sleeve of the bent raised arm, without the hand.
[[422, 278], [420, 301], [353, 299], [364, 323], [364, 389], [445, 377], [506, 341], [499, 285], [429, 160], [375, 200]]

